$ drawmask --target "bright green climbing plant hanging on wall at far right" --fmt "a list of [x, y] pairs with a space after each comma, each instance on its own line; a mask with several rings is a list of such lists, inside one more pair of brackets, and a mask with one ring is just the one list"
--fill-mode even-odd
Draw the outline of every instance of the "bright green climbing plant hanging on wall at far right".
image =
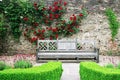
[[119, 22], [117, 21], [117, 16], [115, 15], [112, 9], [106, 9], [105, 13], [109, 20], [112, 40], [114, 40], [115, 36], [118, 34], [118, 30], [120, 26]]

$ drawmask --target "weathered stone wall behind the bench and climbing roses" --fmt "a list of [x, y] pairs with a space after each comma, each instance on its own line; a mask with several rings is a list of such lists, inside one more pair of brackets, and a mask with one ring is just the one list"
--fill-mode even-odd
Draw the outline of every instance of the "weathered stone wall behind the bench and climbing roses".
[[[39, 1], [39, 0], [37, 0]], [[45, 0], [46, 5], [51, 5], [56, 0]], [[120, 53], [120, 29], [116, 36], [116, 39], [111, 42], [111, 31], [104, 10], [107, 7], [111, 7], [117, 14], [120, 21], [120, 1], [119, 0], [65, 0], [68, 2], [67, 16], [71, 14], [77, 14], [84, 6], [89, 12], [86, 19], [82, 21], [80, 26], [80, 32], [63, 39], [75, 39], [80, 40], [95, 40], [96, 46], [100, 49], [101, 54]], [[65, 15], [65, 16], [66, 16]], [[23, 36], [20, 38], [20, 42], [15, 42], [11, 37], [7, 40], [7, 54], [14, 53], [36, 53], [36, 46], [29, 43]]]

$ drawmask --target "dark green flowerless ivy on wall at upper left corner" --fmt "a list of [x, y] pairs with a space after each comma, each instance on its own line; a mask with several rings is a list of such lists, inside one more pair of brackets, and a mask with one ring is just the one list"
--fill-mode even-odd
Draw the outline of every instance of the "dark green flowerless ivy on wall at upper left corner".
[[4, 0], [0, 2], [1, 12], [4, 14], [5, 22], [10, 28], [10, 33], [15, 39], [19, 39], [20, 31], [20, 15], [22, 15], [22, 8], [15, 0]]

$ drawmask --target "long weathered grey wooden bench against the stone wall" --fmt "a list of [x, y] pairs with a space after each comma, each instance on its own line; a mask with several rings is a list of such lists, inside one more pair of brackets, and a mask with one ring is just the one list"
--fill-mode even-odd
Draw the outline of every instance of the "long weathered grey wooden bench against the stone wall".
[[99, 62], [99, 49], [94, 41], [88, 40], [38, 40], [36, 61], [80, 62], [94, 60]]

